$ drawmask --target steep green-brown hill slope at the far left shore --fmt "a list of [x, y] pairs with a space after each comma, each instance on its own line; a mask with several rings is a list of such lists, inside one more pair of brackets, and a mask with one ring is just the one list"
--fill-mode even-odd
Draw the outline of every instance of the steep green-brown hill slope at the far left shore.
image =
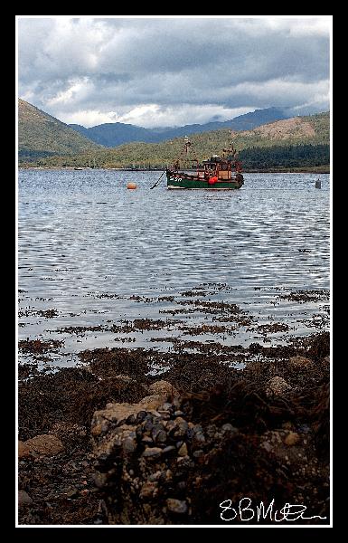
[[58, 119], [24, 100], [18, 101], [18, 156], [30, 160], [52, 155], [71, 155], [99, 150]]

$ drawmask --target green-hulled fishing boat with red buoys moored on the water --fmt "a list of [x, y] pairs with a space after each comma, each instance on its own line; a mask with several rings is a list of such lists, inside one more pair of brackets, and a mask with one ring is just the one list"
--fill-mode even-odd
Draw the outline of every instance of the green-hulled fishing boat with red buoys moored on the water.
[[[183, 155], [187, 157], [189, 151], [193, 152], [194, 156], [194, 173], [180, 171], [180, 158]], [[240, 188], [244, 184], [238, 152], [233, 144], [222, 149], [222, 157], [212, 155], [211, 158], [203, 160], [200, 166], [188, 138], [184, 139], [181, 156], [175, 161], [173, 167], [166, 168], [165, 175], [168, 189], [231, 190]]]

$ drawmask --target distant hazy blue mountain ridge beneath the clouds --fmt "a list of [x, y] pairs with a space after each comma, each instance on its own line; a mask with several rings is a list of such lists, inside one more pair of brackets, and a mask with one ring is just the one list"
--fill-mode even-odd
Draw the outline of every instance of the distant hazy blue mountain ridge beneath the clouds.
[[85, 138], [108, 148], [117, 147], [131, 141], [143, 141], [146, 143], [157, 143], [166, 139], [181, 138], [190, 134], [210, 132], [219, 129], [250, 130], [259, 127], [267, 122], [279, 119], [288, 119], [292, 114], [287, 109], [267, 108], [255, 110], [235, 119], [225, 121], [212, 121], [205, 124], [185, 125], [183, 127], [165, 129], [144, 129], [131, 124], [121, 122], [105, 123], [96, 127], [86, 129], [81, 125], [71, 124], [74, 129]]

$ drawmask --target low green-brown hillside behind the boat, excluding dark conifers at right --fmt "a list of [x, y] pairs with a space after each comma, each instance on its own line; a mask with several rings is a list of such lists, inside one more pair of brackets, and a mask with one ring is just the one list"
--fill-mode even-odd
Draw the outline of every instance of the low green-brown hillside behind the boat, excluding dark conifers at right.
[[[226, 147], [229, 138], [229, 129], [219, 129], [193, 134], [190, 141], [201, 162], [212, 154], [221, 153], [221, 149]], [[315, 149], [308, 146], [324, 146], [321, 156], [324, 157], [324, 163], [326, 163], [329, 156], [330, 115], [329, 112], [325, 112], [307, 117], [282, 119], [252, 130], [235, 130], [232, 132], [232, 138], [235, 148], [239, 151], [249, 149], [249, 154], [254, 156], [254, 162], [258, 154], [265, 154], [265, 150], [270, 148], [283, 148], [283, 155], [290, 153], [292, 157], [298, 157], [302, 153], [306, 158], [308, 152], [316, 161], [320, 157], [315, 153]], [[297, 149], [296, 152], [288, 150], [288, 148], [299, 146], [302, 148]], [[118, 148], [104, 148], [94, 156], [99, 167], [148, 167], [149, 164], [151, 167], [165, 167], [174, 163], [182, 149], [183, 138], [175, 138], [159, 143], [132, 142]], [[272, 151], [272, 155], [274, 154], [275, 151]], [[191, 158], [193, 159], [193, 156]], [[84, 167], [89, 165], [89, 155], [85, 153], [69, 157], [69, 159], [64, 158], [64, 160], [61, 157], [52, 157], [42, 159], [38, 161], [38, 164], [40, 166]], [[182, 167], [184, 167], [183, 163]]]

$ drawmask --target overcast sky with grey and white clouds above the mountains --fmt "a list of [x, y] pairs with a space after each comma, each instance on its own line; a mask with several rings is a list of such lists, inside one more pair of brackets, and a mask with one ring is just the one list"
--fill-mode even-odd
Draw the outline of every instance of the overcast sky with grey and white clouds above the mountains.
[[18, 95], [66, 123], [146, 128], [329, 109], [329, 16], [18, 18]]

